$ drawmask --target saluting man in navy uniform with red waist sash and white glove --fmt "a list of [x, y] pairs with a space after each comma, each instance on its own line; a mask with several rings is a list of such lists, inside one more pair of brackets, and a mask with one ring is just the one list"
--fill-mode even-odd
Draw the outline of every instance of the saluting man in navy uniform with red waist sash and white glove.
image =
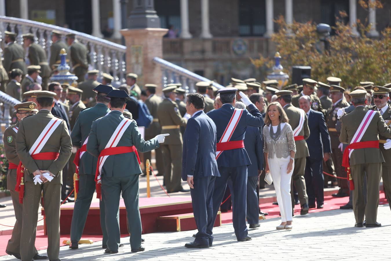
[[235, 109], [237, 88], [222, 88], [219, 90], [220, 100], [223, 104], [218, 110], [208, 112], [208, 116], [217, 127], [217, 166], [221, 177], [215, 178], [213, 190], [213, 220], [208, 222], [208, 229], [213, 228], [217, 212], [224, 196], [227, 180], [231, 177], [233, 184], [233, 210], [232, 221], [238, 241], [248, 241], [246, 225], [246, 191], [247, 166], [251, 165], [246, 149], [244, 149], [244, 135], [247, 126], [261, 127], [264, 119], [261, 113], [251, 103], [250, 99], [240, 92], [242, 102], [248, 106], [247, 110]]

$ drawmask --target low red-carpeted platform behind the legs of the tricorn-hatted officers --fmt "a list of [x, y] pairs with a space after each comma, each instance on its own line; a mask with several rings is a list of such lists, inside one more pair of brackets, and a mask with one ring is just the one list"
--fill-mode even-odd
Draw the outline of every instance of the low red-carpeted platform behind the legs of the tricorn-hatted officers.
[[[190, 196], [186, 197], [153, 197], [140, 198], [140, 215], [143, 234], [158, 232], [157, 218], [177, 214], [192, 213], [192, 201]], [[70, 226], [74, 203], [66, 203], [60, 207], [60, 234], [70, 234]], [[42, 214], [45, 211], [42, 209]], [[120, 232], [127, 233], [126, 209], [124, 200], [120, 199]], [[92, 202], [88, 212], [86, 225], [83, 234], [102, 234], [100, 229], [99, 202]]]

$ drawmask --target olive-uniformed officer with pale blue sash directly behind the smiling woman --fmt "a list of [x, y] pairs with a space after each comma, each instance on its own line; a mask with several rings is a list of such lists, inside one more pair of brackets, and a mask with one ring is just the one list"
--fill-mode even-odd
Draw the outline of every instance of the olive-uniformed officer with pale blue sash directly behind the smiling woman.
[[[291, 182], [291, 198], [292, 198], [292, 214], [295, 205], [295, 200], [293, 196], [293, 185], [296, 187], [296, 191], [299, 196], [300, 205], [301, 205], [301, 215], [308, 213], [308, 196], [305, 189], [305, 162], [306, 158], [309, 156], [307, 142], [305, 142], [308, 137], [310, 137], [310, 129], [308, 128], [308, 119], [307, 114], [300, 108], [296, 108], [291, 104], [292, 101], [292, 91], [282, 90], [276, 92], [277, 101], [283, 107], [285, 113], [289, 119], [289, 125], [291, 125], [292, 130], [298, 128], [298, 132], [294, 133], [295, 144], [296, 144], [296, 153], [294, 155], [294, 167], [292, 174]], [[303, 126], [301, 129], [298, 127], [301, 124], [301, 117], [304, 117]]]

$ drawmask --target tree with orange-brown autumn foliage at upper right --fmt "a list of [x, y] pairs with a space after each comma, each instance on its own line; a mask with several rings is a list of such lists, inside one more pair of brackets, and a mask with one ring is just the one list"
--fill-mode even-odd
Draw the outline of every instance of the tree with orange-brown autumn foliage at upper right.
[[[380, 1], [360, 0], [359, 4], [364, 8], [368, 8], [368, 4], [382, 8]], [[384, 29], [379, 38], [369, 38], [371, 25], [368, 21], [357, 20], [360, 36], [356, 37], [351, 27], [342, 22], [344, 17], [346, 13], [341, 12], [333, 27], [335, 35], [329, 38], [329, 51], [323, 50], [315, 23], [288, 25], [282, 16], [278, 18], [276, 23], [280, 30], [271, 40], [282, 56], [284, 71], [290, 74], [292, 66], [311, 66], [312, 79], [326, 83], [328, 76], [339, 77], [344, 88], [354, 88], [360, 81], [373, 81], [376, 85], [391, 82], [391, 28]], [[271, 68], [274, 59], [260, 56], [251, 62], [257, 68]]]

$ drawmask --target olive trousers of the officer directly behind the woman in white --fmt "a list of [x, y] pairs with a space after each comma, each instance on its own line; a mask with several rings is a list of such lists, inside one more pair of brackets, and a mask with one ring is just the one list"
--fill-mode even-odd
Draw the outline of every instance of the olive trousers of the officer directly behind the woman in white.
[[[308, 196], [307, 196], [307, 191], [305, 189], [304, 172], [305, 172], [305, 157], [295, 158], [294, 166], [293, 166], [292, 182], [291, 182], [291, 191], [293, 191], [293, 185], [294, 185], [297, 194], [299, 196], [299, 201], [301, 206], [304, 204], [308, 204]], [[293, 193], [291, 193], [291, 201], [292, 201], [292, 211], [293, 211], [294, 203], [295, 203]]]

